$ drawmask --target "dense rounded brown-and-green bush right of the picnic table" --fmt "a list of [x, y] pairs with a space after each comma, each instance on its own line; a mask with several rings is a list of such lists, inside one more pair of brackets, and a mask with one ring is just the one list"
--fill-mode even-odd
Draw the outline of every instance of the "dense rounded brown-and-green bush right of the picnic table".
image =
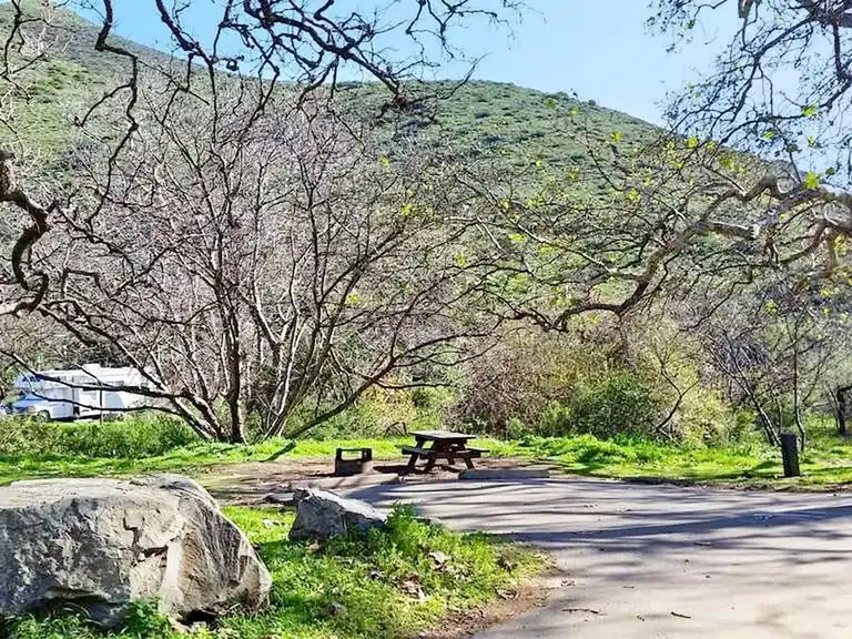
[[722, 394], [697, 383], [701, 371], [682, 338], [659, 325], [577, 324], [569, 334], [515, 333], [473, 363], [456, 407], [459, 419], [510, 438], [739, 438], [742, 429]]

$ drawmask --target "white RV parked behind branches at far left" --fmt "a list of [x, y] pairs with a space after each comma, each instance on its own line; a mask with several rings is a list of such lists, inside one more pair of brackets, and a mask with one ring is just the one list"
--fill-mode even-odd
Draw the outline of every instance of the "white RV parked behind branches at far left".
[[12, 404], [11, 409], [13, 415], [42, 419], [98, 417], [142, 404], [144, 396], [122, 388], [145, 385], [142, 374], [131, 367], [104, 368], [98, 364], [84, 364], [69, 371], [24, 373], [14, 381], [14, 388], [21, 393], [21, 398]]

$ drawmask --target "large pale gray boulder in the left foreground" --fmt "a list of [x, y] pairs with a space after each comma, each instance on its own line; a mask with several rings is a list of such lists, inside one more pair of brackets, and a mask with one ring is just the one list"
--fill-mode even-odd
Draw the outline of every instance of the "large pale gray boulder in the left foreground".
[[245, 535], [187, 477], [0, 487], [0, 616], [82, 609], [109, 627], [136, 599], [186, 618], [257, 609], [271, 586]]

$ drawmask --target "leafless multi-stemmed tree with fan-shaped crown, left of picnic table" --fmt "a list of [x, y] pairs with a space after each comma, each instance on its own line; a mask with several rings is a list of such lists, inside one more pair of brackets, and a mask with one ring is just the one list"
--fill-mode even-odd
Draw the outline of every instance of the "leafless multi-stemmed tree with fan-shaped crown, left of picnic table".
[[373, 385], [433, 383], [407, 372], [493, 331], [443, 164], [390, 162], [323, 104], [170, 100], [115, 158], [87, 151], [78, 209], [36, 253], [39, 313], [144, 371], [140, 393], [205, 437], [244, 440], [248, 412], [295, 435]]

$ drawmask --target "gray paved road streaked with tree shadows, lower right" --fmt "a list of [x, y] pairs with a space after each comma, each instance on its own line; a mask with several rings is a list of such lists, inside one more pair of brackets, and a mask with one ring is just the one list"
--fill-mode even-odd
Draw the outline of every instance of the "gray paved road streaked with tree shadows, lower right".
[[852, 638], [852, 495], [586, 479], [353, 490], [550, 550], [566, 585], [480, 639]]

